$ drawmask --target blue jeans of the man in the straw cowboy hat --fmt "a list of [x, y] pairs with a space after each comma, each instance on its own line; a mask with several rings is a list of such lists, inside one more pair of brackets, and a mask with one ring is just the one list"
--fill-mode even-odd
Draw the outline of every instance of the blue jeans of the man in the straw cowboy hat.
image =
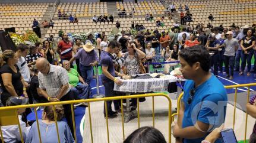
[[93, 80], [93, 67], [92, 66], [83, 66], [79, 64], [81, 76], [83, 77], [84, 81], [89, 85], [89, 93], [91, 93], [91, 80]]

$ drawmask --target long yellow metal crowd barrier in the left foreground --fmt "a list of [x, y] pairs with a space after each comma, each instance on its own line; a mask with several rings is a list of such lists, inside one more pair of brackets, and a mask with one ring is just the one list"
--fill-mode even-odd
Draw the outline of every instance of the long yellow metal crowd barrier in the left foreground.
[[[74, 104], [77, 103], [83, 103], [87, 102], [88, 103], [88, 109], [89, 109], [89, 122], [90, 122], [90, 137], [91, 137], [91, 142], [93, 143], [93, 134], [92, 134], [92, 125], [91, 125], [91, 107], [90, 107], [90, 102], [105, 102], [105, 110], [106, 110], [106, 128], [107, 128], [107, 134], [108, 134], [108, 142], [109, 142], [109, 124], [108, 124], [108, 111], [106, 108], [106, 101], [107, 100], [121, 100], [121, 118], [122, 118], [122, 137], [125, 139], [125, 132], [124, 132], [124, 107], [123, 107], [123, 99], [132, 99], [132, 98], [137, 98], [137, 121], [138, 121], [138, 128], [140, 128], [140, 104], [138, 98], [147, 98], [151, 97], [152, 98], [152, 126], [154, 127], [154, 122], [155, 122], [155, 116], [154, 116], [154, 97], [156, 96], [163, 96], [167, 99], [168, 101], [168, 142], [171, 142], [171, 116], [172, 116], [172, 102], [169, 98], [168, 95], [164, 93], [149, 93], [149, 94], [143, 94], [143, 95], [129, 95], [129, 96], [114, 96], [114, 97], [109, 97], [109, 98], [99, 98], [99, 99], [86, 99], [86, 100], [70, 100], [70, 101], [63, 101], [63, 102], [52, 102], [52, 103], [38, 103], [38, 104], [33, 104], [33, 105], [19, 105], [19, 106], [7, 106], [7, 107], [2, 107], [0, 108], [0, 134], [1, 134], [1, 139], [2, 142], [4, 142], [4, 138], [2, 136], [2, 129], [1, 126], [7, 126], [7, 125], [18, 125], [19, 131], [20, 131], [20, 137], [21, 137], [21, 142], [24, 142], [22, 132], [21, 132], [21, 126], [20, 122], [18, 121], [18, 113], [17, 109], [22, 109], [22, 108], [34, 108], [34, 113], [36, 116], [36, 124], [37, 124], [37, 131], [39, 133], [39, 141], [40, 143], [42, 142], [42, 139], [40, 137], [40, 129], [39, 129], [39, 122], [37, 118], [37, 111], [36, 108], [40, 106], [53, 106], [53, 105], [67, 105], [69, 104], [71, 106], [71, 111], [72, 111], [72, 122], [73, 125], [75, 125], [75, 118], [74, 118]], [[56, 131], [58, 135], [58, 142], [60, 142], [59, 139], [59, 132], [58, 132], [58, 123], [56, 121], [56, 112], [55, 112], [55, 106], [53, 106], [53, 112], [54, 112], [54, 117], [55, 117], [55, 124], [56, 124]], [[127, 123], [129, 124], [129, 123]], [[74, 135], [75, 135], [75, 142], [77, 142], [76, 138], [76, 132], [75, 132], [75, 126], [73, 128], [74, 130]]]

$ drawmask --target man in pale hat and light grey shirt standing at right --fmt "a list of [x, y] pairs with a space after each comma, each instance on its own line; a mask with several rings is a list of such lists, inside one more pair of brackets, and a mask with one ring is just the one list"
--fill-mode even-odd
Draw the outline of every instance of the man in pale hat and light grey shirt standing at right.
[[[225, 47], [224, 52], [224, 64], [225, 64], [225, 71], [226, 71], [226, 77], [229, 77], [229, 79], [233, 79], [234, 74], [234, 60], [235, 60], [235, 53], [236, 50], [238, 50], [238, 40], [233, 38], [233, 32], [228, 31], [226, 33], [227, 39], [224, 41], [220, 47]], [[230, 73], [229, 73], [229, 67], [230, 67]]]

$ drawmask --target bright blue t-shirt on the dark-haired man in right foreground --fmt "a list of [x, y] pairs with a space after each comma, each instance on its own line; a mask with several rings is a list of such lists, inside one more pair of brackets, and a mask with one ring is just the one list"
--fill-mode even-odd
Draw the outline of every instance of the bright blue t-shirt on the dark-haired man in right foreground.
[[[227, 93], [222, 83], [213, 75], [201, 84], [194, 88], [194, 81], [187, 80], [184, 85], [185, 105], [184, 118], [182, 119], [182, 128], [194, 126], [197, 121], [213, 126], [210, 132], [225, 121]], [[191, 96], [191, 91], [194, 89], [194, 96], [191, 103], [188, 104], [188, 99]], [[205, 137], [206, 137], [205, 136]], [[184, 139], [184, 143], [198, 143], [204, 138]], [[217, 140], [216, 142], [221, 142]]]

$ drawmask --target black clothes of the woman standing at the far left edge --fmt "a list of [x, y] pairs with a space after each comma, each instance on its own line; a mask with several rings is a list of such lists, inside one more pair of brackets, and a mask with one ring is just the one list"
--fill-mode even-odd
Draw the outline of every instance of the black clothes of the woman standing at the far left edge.
[[4, 106], [6, 105], [5, 103], [6, 103], [7, 99], [14, 95], [11, 95], [8, 92], [8, 90], [5, 88], [4, 82], [2, 80], [2, 74], [10, 73], [11, 74], [11, 83], [12, 83], [12, 86], [14, 87], [15, 92], [17, 93], [18, 96], [23, 95], [23, 84], [20, 80], [20, 78], [21, 78], [20, 69], [18, 69], [17, 65], [15, 65], [15, 67], [17, 69], [17, 73], [15, 73], [8, 64], [4, 64], [4, 66], [2, 66], [0, 69], [0, 83], [2, 85], [2, 90], [3, 90], [2, 94], [1, 94], [1, 100], [2, 100], [2, 103], [4, 104]]

